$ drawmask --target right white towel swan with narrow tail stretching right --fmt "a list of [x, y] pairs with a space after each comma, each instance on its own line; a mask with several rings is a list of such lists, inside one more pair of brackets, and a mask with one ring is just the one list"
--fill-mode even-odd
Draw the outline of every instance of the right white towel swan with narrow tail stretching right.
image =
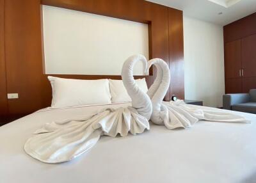
[[157, 77], [148, 90], [148, 96], [152, 101], [152, 122], [158, 125], [165, 125], [168, 129], [178, 127], [188, 128], [199, 120], [214, 122], [242, 122], [250, 123], [243, 116], [232, 113], [216, 112], [207, 109], [196, 109], [185, 104], [183, 100], [163, 103], [164, 96], [170, 85], [170, 70], [165, 61], [156, 58], [148, 61], [148, 68], [155, 65]]

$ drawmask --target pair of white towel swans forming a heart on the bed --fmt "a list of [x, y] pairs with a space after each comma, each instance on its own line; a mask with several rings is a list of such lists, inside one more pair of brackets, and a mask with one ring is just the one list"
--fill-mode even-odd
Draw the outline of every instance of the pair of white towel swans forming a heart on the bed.
[[[140, 60], [144, 63], [145, 72], [152, 65], [157, 68], [157, 77], [148, 95], [140, 90], [132, 76], [134, 64]], [[149, 130], [149, 119], [168, 129], [188, 128], [198, 120], [247, 122], [243, 117], [230, 113], [195, 109], [182, 100], [163, 104], [170, 85], [170, 71], [161, 59], [150, 60], [147, 64], [144, 56], [131, 56], [122, 68], [122, 80], [132, 99], [132, 107], [102, 109], [82, 119], [46, 123], [26, 141], [25, 152], [44, 163], [70, 161], [90, 150], [102, 135], [127, 136], [129, 132], [135, 135]]]

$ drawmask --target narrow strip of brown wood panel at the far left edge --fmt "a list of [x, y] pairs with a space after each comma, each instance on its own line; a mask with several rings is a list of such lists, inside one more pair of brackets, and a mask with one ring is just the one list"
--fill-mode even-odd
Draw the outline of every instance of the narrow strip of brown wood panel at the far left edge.
[[7, 115], [7, 92], [4, 51], [4, 0], [0, 0], [0, 116]]

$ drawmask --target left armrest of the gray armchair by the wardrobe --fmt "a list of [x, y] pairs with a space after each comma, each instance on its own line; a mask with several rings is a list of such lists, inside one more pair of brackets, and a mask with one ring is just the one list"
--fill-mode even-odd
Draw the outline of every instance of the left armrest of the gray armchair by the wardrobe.
[[250, 101], [249, 93], [235, 93], [223, 95], [223, 109], [231, 109], [234, 104], [241, 104]]

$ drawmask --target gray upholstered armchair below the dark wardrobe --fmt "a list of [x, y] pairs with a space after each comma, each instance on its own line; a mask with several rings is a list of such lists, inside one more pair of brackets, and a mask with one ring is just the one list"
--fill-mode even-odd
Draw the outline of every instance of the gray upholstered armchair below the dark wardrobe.
[[256, 89], [249, 93], [223, 95], [223, 109], [256, 114]]

